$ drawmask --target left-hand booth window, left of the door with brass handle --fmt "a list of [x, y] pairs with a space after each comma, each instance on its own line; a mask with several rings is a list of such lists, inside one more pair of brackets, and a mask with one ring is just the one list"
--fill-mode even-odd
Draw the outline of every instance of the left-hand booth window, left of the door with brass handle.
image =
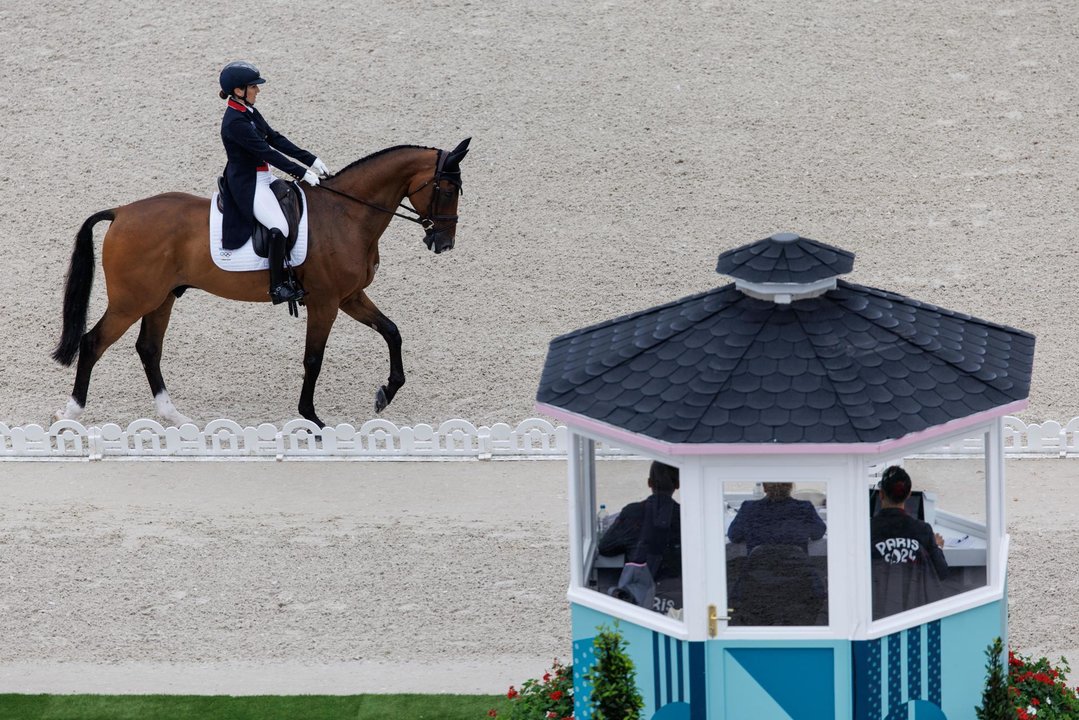
[[682, 526], [679, 471], [659, 462], [595, 465], [595, 552], [589, 588], [681, 619]]

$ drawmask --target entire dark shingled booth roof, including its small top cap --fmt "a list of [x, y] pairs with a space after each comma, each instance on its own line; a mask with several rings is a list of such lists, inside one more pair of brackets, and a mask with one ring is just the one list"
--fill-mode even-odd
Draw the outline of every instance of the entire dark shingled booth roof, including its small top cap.
[[[725, 253], [720, 266], [768, 244]], [[817, 267], [843, 272], [844, 258], [837, 250]], [[789, 263], [779, 274], [790, 272], [828, 280]], [[753, 282], [777, 281], [765, 272]], [[1034, 343], [1023, 330], [838, 280], [786, 303], [730, 284], [555, 338], [536, 400], [670, 444], [882, 443], [1024, 400]]]

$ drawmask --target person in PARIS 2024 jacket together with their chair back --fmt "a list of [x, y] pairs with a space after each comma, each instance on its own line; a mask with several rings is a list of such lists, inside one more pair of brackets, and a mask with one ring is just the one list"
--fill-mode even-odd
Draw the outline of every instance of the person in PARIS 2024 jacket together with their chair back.
[[943, 597], [944, 539], [906, 513], [912, 490], [911, 476], [898, 465], [880, 476], [880, 510], [870, 520], [874, 620]]

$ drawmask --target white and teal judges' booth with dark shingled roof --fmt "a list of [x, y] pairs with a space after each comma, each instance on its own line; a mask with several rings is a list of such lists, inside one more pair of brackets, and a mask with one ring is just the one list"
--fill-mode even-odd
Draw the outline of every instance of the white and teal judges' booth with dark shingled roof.
[[[551, 341], [536, 407], [572, 440], [575, 717], [601, 627], [647, 719], [973, 717], [985, 650], [1007, 642], [1002, 418], [1025, 407], [1034, 338], [836, 281], [850, 260], [774, 235], [720, 258], [749, 291]], [[677, 533], [613, 547], [652, 517], [654, 461], [678, 470]], [[891, 465], [913, 485], [901, 507], [882, 502]]]

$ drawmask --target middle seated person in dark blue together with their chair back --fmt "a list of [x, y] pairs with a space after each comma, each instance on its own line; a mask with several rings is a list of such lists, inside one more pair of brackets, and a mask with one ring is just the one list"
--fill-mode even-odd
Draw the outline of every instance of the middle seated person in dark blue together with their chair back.
[[728, 565], [732, 625], [828, 624], [828, 592], [808, 555], [809, 541], [828, 528], [811, 502], [791, 497], [792, 489], [791, 483], [765, 483], [765, 497], [743, 502], [727, 529], [748, 553]]

